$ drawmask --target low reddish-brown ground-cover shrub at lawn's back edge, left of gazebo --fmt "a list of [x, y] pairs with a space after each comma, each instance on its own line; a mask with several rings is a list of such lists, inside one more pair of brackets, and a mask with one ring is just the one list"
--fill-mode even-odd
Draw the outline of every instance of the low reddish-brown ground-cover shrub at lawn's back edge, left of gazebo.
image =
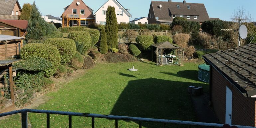
[[120, 54], [120, 53], [107, 53], [104, 58], [108, 63], [119, 63], [119, 62], [134, 62], [136, 58], [134, 58], [130, 54]]

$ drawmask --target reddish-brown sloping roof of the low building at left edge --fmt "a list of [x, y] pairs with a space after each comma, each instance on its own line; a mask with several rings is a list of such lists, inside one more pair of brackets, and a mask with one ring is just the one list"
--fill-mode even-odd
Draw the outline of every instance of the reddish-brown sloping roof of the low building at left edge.
[[22, 29], [22, 30], [27, 29], [27, 26], [28, 26], [28, 21], [26, 21], [26, 20], [3, 20], [3, 19], [0, 19], [0, 22], [7, 24], [9, 26], [18, 28], [18, 29]]

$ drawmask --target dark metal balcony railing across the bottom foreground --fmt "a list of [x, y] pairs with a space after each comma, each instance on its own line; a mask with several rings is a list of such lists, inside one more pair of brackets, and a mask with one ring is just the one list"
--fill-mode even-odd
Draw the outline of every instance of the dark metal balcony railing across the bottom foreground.
[[[91, 127], [92, 128], [95, 127], [95, 122], [94, 122], [95, 118], [114, 119], [116, 128], [118, 128], [118, 120], [138, 121], [139, 128], [142, 127], [142, 122], [163, 123], [164, 127], [166, 127], [166, 124], [183, 124], [183, 125], [208, 126], [208, 127], [218, 127], [218, 128], [223, 127], [223, 124], [216, 124], [216, 123], [202, 123], [202, 122], [191, 122], [191, 121], [165, 120], [165, 119], [100, 115], [100, 114], [64, 112], [64, 111], [35, 110], [35, 109], [22, 109], [22, 110], [17, 110], [17, 111], [12, 111], [12, 112], [6, 112], [6, 113], [0, 114], [0, 117], [21, 113], [22, 128], [27, 128], [28, 127], [28, 112], [30, 112], [30, 113], [45, 113], [46, 117], [47, 117], [47, 119], [46, 119], [47, 128], [50, 128], [50, 114], [68, 115], [69, 128], [72, 127], [72, 116], [91, 117]], [[250, 126], [236, 126], [236, 127], [238, 127], [238, 128], [255, 128], [255, 127], [250, 127]]]

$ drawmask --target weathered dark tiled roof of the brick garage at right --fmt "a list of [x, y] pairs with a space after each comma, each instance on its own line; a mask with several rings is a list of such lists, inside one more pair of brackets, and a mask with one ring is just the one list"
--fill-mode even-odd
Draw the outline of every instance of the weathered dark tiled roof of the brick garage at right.
[[210, 53], [203, 58], [245, 96], [256, 95], [256, 44]]

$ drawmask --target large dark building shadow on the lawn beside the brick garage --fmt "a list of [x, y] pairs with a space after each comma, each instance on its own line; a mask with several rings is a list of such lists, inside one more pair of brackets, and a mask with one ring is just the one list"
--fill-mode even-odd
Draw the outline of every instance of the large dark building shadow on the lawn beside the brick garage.
[[[188, 86], [191, 85], [207, 86], [206, 84], [155, 78], [129, 81], [110, 114], [196, 121], [187, 92]], [[143, 126], [149, 128], [163, 127], [163, 124], [143, 122]], [[172, 127], [177, 126], [179, 125], [172, 125]]]

